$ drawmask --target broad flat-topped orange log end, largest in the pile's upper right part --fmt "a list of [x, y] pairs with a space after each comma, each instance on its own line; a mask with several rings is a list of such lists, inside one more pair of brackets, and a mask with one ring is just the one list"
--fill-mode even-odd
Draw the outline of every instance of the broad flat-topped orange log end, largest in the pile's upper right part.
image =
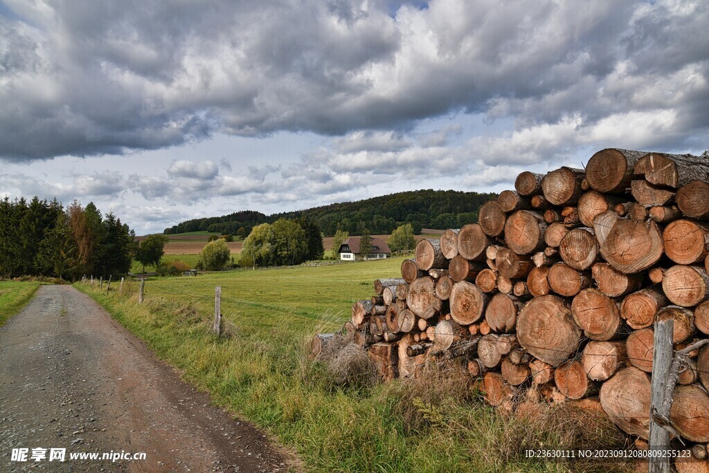
[[663, 253], [662, 235], [652, 220], [618, 220], [601, 244], [601, 256], [605, 261], [627, 274], [650, 268]]

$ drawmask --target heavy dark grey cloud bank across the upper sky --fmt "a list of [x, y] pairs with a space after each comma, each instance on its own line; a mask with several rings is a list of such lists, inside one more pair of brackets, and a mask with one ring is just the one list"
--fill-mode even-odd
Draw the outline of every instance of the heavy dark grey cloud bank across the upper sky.
[[340, 137], [345, 154], [396, 153], [418, 120], [460, 112], [513, 117], [523, 132], [659, 110], [677, 117], [665, 129], [677, 145], [708, 127], [709, 4], [698, 0], [6, 5], [9, 160], [279, 130]]

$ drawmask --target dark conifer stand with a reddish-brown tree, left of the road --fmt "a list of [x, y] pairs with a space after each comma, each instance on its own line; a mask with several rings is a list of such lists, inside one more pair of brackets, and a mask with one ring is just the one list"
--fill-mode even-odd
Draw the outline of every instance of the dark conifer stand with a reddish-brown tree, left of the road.
[[0, 200], [1, 277], [108, 278], [128, 273], [135, 251], [133, 230], [94, 203]]

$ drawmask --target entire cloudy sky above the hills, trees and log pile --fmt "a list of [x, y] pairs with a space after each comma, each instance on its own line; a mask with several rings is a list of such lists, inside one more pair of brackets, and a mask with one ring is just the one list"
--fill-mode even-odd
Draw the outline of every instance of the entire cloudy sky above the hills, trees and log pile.
[[0, 0], [0, 196], [138, 234], [709, 148], [705, 0]]

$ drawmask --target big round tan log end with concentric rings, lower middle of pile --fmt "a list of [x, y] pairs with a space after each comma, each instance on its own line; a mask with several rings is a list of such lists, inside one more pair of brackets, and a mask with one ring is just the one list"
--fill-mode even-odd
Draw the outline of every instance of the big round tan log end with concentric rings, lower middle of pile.
[[543, 295], [528, 302], [518, 314], [517, 338], [532, 356], [559, 366], [579, 348], [581, 329], [564, 300]]

